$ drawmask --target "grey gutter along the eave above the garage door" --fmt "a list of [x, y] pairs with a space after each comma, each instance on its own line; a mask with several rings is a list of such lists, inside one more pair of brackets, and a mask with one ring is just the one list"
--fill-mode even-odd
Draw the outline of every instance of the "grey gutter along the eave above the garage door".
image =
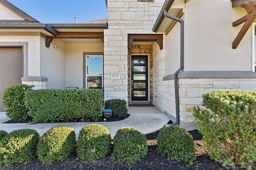
[[1, 23], [0, 28], [8, 28], [8, 29], [43, 29], [46, 30], [48, 33], [56, 36], [58, 32], [55, 31], [52, 27], [47, 24], [43, 23], [31, 23], [31, 24], [14, 24], [14, 23]]

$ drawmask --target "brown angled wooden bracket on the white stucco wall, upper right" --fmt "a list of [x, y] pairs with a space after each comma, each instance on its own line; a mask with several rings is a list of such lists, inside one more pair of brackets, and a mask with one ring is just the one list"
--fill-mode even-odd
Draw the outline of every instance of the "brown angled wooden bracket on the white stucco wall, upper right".
[[236, 47], [241, 42], [242, 38], [252, 25], [252, 22], [256, 18], [256, 6], [253, 6], [252, 2], [243, 2], [240, 6], [246, 10], [247, 15], [240, 18], [239, 20], [234, 21], [232, 24], [233, 27], [236, 27], [237, 25], [240, 25], [241, 23], [245, 22], [242, 29], [236, 36], [236, 39], [232, 43], [232, 49], [236, 49]]

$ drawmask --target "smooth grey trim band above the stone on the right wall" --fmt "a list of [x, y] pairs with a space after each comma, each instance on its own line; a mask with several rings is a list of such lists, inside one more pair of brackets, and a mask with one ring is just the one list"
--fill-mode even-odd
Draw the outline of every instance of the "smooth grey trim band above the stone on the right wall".
[[[178, 78], [256, 78], [252, 71], [184, 71]], [[173, 80], [174, 74], [163, 77], [163, 80]]]

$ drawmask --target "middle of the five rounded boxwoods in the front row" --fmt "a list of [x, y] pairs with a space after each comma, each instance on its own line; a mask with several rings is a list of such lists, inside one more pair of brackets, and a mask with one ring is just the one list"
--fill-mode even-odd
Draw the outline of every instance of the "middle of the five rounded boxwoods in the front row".
[[79, 133], [76, 153], [86, 161], [96, 160], [110, 152], [110, 132], [104, 125], [89, 124]]

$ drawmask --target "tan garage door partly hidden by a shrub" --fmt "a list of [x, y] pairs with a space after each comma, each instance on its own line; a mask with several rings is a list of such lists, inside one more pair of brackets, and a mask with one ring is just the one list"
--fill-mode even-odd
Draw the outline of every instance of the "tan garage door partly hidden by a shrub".
[[4, 111], [4, 90], [10, 85], [21, 84], [22, 76], [22, 47], [0, 47], [0, 111]]

